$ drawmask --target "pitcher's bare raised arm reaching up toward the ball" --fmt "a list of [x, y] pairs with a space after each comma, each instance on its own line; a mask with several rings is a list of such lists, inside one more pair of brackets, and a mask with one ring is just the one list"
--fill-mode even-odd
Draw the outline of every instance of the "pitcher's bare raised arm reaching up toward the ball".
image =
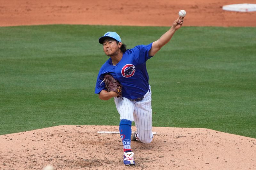
[[175, 31], [177, 31], [182, 26], [183, 18], [184, 17], [179, 17], [178, 19], [176, 19], [173, 22], [172, 27], [166, 33], [164, 33], [158, 40], [153, 42], [152, 47], [148, 52], [149, 56], [155, 55], [157, 51], [159, 51], [165, 44], [167, 44], [167, 42], [169, 42], [172, 39], [172, 36], [175, 33]]

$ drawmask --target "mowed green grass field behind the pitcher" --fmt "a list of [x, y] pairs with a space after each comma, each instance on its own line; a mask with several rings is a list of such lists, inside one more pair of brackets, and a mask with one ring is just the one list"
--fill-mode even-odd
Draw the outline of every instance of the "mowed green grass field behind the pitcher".
[[[118, 125], [94, 94], [108, 59], [98, 38], [128, 48], [168, 27], [0, 27], [0, 135], [56, 125]], [[256, 27], [182, 27], [148, 60], [153, 126], [209, 128], [256, 138]]]

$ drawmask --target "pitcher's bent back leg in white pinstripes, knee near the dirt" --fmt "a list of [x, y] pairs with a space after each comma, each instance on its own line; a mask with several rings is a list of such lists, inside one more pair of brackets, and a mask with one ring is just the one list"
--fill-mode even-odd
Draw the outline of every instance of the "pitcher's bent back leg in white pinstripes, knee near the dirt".
[[141, 142], [150, 143], [153, 139], [151, 90], [145, 94], [143, 100], [134, 103], [134, 122], [138, 137]]

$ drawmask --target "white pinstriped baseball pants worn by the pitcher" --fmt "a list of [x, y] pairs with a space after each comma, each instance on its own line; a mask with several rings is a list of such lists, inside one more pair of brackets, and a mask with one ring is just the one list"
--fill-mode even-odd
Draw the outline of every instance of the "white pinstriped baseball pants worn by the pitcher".
[[114, 97], [114, 101], [120, 120], [134, 121], [140, 141], [146, 144], [150, 143], [153, 138], [151, 90], [141, 101], [133, 101], [125, 97], [123, 99]]

